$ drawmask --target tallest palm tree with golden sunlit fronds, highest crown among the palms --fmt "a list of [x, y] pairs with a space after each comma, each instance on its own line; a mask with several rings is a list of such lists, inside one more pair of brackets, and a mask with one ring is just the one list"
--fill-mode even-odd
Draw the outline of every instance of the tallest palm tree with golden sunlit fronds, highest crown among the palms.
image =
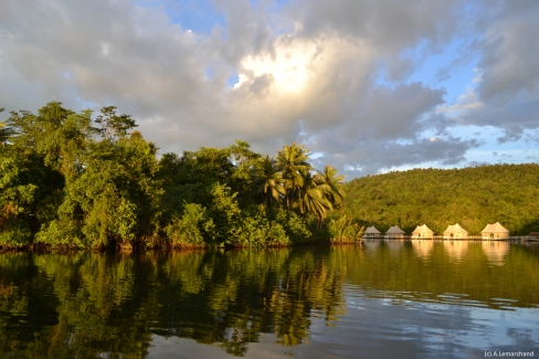
[[307, 162], [308, 159], [308, 149], [303, 145], [296, 145], [296, 142], [290, 146], [283, 146], [283, 149], [277, 154], [277, 162], [286, 189], [286, 208], [288, 211], [294, 204], [294, 192], [304, 186], [304, 177], [311, 170], [311, 166]]

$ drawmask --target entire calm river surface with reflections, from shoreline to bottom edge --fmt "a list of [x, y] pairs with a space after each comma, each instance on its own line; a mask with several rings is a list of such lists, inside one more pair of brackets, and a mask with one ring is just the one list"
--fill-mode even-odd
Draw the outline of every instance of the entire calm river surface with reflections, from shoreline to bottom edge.
[[539, 245], [0, 255], [0, 358], [539, 357]]

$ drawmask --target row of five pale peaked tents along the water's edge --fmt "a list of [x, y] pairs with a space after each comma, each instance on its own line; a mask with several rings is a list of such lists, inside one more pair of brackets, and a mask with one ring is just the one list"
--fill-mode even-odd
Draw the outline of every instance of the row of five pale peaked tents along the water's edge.
[[[390, 226], [390, 229], [382, 234], [373, 225], [369, 226], [363, 232], [363, 237], [387, 237], [387, 239], [399, 239], [404, 237], [406, 234], [399, 225]], [[444, 231], [444, 239], [447, 240], [465, 240], [468, 237], [468, 231], [463, 229], [461, 224], [448, 225]], [[506, 240], [509, 239], [509, 231], [506, 230], [499, 222], [494, 224], [487, 224], [485, 229], [480, 232], [480, 237], [483, 240]], [[434, 239], [434, 232], [426, 226], [426, 224], [418, 225], [412, 232], [412, 239]]]

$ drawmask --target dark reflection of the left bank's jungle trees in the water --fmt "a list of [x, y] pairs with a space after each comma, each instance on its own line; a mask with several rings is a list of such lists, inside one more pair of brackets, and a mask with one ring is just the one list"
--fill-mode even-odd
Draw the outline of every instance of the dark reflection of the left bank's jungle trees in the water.
[[346, 273], [329, 249], [3, 254], [0, 349], [14, 357], [139, 358], [151, 335], [242, 356], [261, 332], [307, 340], [331, 319]]

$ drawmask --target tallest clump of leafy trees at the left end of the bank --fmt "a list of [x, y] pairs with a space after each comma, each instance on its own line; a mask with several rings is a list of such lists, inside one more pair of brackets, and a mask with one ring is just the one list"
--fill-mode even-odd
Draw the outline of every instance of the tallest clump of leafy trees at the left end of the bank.
[[91, 127], [91, 110], [75, 113], [57, 102], [38, 114], [11, 113], [7, 124], [17, 135], [0, 159], [9, 173], [3, 200], [21, 209], [2, 215], [11, 233], [29, 229], [51, 245], [155, 244], [157, 148], [140, 133], [128, 134], [136, 127], [130, 116], [112, 106], [101, 113], [102, 129]]

